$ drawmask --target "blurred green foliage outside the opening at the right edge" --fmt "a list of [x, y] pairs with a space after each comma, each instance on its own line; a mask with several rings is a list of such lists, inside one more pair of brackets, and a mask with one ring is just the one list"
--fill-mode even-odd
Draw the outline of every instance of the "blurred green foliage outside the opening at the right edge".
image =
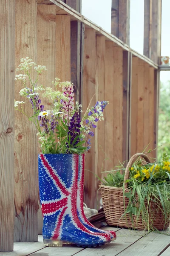
[[159, 159], [164, 151], [170, 155], [170, 81], [160, 84], [158, 145]]

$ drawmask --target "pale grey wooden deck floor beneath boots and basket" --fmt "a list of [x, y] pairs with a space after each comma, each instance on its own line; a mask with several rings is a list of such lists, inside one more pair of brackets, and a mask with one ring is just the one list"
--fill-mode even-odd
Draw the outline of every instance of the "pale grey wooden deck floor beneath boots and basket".
[[14, 243], [13, 252], [0, 252], [0, 256], [170, 256], [170, 236], [158, 233], [104, 227], [115, 230], [116, 241], [99, 248], [76, 246], [44, 247], [42, 236], [34, 243]]

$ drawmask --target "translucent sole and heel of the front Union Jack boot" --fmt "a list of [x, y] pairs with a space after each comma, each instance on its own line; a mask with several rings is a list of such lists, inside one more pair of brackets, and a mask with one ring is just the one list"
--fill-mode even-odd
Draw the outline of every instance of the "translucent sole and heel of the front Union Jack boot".
[[88, 247], [88, 248], [91, 248], [91, 247], [97, 247], [97, 246], [102, 246], [104, 244], [108, 244], [111, 241], [108, 241], [106, 243], [101, 243], [101, 244], [90, 244], [90, 245], [76, 244], [76, 243], [71, 243], [71, 242], [68, 242], [68, 241], [52, 240], [52, 239], [43, 239], [43, 242], [44, 242], [44, 245], [48, 246], [48, 247], [62, 247], [63, 244], [74, 244], [74, 245], [77, 245], [77, 247], [83, 247], [83, 248]]

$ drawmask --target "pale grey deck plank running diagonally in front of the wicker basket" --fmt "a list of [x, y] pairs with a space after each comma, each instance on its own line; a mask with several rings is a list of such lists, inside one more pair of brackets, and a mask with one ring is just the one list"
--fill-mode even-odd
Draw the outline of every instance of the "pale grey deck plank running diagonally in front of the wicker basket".
[[146, 237], [139, 239], [125, 251], [119, 253], [119, 256], [158, 256], [168, 245], [170, 245], [169, 236], [149, 233]]

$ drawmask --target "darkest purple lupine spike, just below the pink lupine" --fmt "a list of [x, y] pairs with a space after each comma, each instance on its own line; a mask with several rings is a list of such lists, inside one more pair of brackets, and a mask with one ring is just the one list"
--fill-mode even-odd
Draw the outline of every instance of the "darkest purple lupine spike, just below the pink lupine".
[[[72, 116], [71, 120], [70, 120], [70, 123], [69, 123], [69, 126], [68, 126], [68, 140], [69, 140], [69, 134], [70, 134], [70, 144], [72, 145], [75, 137], [77, 135], [80, 135], [80, 122], [81, 122], [81, 119], [79, 117], [79, 112], [76, 111], [74, 113], [74, 115]], [[79, 138], [77, 139], [77, 141], [74, 143], [73, 146], [75, 146], [77, 143], [79, 143]], [[66, 143], [68, 145], [68, 143]]]

